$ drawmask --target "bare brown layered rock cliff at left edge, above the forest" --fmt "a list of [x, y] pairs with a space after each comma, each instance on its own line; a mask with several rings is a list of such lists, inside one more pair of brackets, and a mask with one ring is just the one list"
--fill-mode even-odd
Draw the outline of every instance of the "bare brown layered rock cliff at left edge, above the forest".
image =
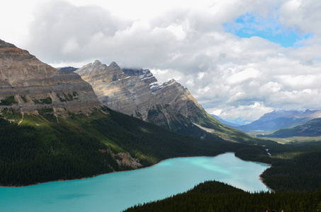
[[94, 90], [77, 73], [62, 71], [28, 51], [0, 40], [0, 109], [50, 109], [53, 114], [90, 113], [101, 107]]

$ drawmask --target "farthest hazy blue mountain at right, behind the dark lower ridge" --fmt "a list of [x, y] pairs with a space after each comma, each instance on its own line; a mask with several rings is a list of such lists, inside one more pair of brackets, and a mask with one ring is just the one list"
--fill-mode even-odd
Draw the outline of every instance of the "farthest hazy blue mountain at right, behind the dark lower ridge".
[[321, 111], [305, 110], [305, 112], [299, 112], [295, 110], [274, 110], [273, 112], [264, 114], [261, 118], [251, 124], [236, 126], [235, 128], [241, 131], [276, 131], [277, 129], [303, 124], [308, 120], [317, 117], [321, 117]]

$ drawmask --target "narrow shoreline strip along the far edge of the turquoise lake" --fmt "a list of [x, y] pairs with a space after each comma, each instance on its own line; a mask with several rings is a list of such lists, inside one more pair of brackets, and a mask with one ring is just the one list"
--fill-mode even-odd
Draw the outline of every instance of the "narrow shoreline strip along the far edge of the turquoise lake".
[[[224, 152], [224, 153], [219, 153], [218, 155], [224, 155], [226, 153], [234, 153], [234, 156], [235, 156], [235, 152]], [[182, 157], [175, 157], [175, 158], [197, 158], [197, 157], [208, 157], [208, 158], [211, 158], [211, 157], [217, 157], [218, 155], [214, 155], [214, 156], [206, 156], [206, 155], [201, 155], [201, 156], [182, 156]], [[237, 156], [235, 156], [235, 158], [238, 158]], [[164, 160], [160, 160], [158, 163], [155, 163], [153, 165], [150, 165], [150, 166], [147, 166], [147, 167], [141, 167], [141, 168], [137, 168], [137, 169], [133, 169], [133, 170], [143, 170], [143, 169], [147, 169], [147, 168], [150, 168], [150, 167], [154, 167], [155, 165], [158, 165], [159, 163], [162, 163], [164, 162], [165, 160], [171, 160], [171, 159], [174, 159], [174, 158], [167, 158], [167, 159], [164, 159]], [[242, 158], [239, 158], [240, 160], [242, 160]], [[252, 161], [252, 160], [244, 160], [244, 161], [247, 161], [247, 162], [254, 162], [254, 163], [261, 163], [261, 162], [258, 162], [258, 161]], [[266, 164], [266, 165], [269, 165], [269, 167], [272, 167], [271, 164], [267, 164], [267, 163], [262, 163], [262, 164]], [[45, 184], [45, 183], [50, 183], [50, 182], [63, 182], [63, 181], [72, 181], [72, 180], [80, 180], [80, 179], [90, 179], [90, 178], [94, 178], [94, 177], [98, 177], [98, 176], [101, 176], [101, 175], [109, 175], [109, 174], [113, 174], [113, 173], [118, 173], [118, 172], [130, 172], [130, 171], [133, 171], [133, 170], [122, 170], [122, 171], [115, 171], [115, 172], [108, 172], [108, 173], [103, 173], [103, 174], [98, 174], [98, 175], [93, 175], [91, 177], [81, 177], [81, 178], [77, 178], [77, 179], [57, 179], [57, 180], [52, 180], [52, 181], [48, 181], [48, 182], [38, 182], [38, 183], [35, 183], [35, 184], [28, 184], [28, 185], [23, 185], [23, 186], [0, 186], [0, 187], [3, 187], [3, 188], [21, 188], [21, 187], [33, 187], [33, 186], [36, 186], [38, 184]], [[263, 173], [263, 172], [262, 172]], [[261, 173], [261, 174], [262, 174]], [[270, 187], [268, 187], [264, 182], [263, 182], [263, 178], [261, 178], [261, 175], [259, 175], [259, 180], [262, 182], [262, 184], [264, 184], [268, 189], [270, 189], [271, 191], [274, 192], [273, 189], [271, 189]], [[201, 182], [200, 182], [201, 183]]]

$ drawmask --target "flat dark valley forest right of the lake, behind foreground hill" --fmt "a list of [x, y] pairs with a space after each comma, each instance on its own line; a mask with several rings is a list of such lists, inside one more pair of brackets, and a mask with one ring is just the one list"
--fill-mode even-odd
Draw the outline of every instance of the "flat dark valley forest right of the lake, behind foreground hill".
[[[240, 149], [235, 155], [243, 160], [269, 163], [261, 177], [264, 183], [278, 192], [316, 191], [321, 184], [320, 144], [269, 144], [267, 157], [259, 150]], [[266, 148], [268, 148], [266, 146]]]

